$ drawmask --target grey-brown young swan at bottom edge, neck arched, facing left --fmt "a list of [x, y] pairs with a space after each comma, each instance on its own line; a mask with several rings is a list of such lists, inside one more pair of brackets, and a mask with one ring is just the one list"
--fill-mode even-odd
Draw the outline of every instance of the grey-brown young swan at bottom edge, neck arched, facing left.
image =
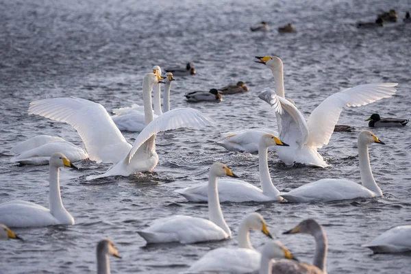
[[[304, 233], [314, 236], [315, 239], [315, 254], [314, 262], [306, 264], [303, 262], [292, 262], [290, 260], [277, 261], [272, 266], [272, 273], [282, 274], [325, 274], [327, 260], [327, 236], [323, 227], [313, 219], [306, 219], [299, 223], [293, 229], [284, 232], [284, 234]], [[271, 273], [271, 272], [270, 272]]]

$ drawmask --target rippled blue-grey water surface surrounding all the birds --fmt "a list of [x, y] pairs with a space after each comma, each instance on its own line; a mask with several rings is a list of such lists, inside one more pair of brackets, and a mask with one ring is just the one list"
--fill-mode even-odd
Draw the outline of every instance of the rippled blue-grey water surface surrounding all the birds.
[[[358, 21], [395, 8], [399, 23], [357, 29]], [[409, 255], [376, 255], [361, 245], [395, 225], [411, 223], [410, 126], [373, 129], [386, 145], [371, 145], [379, 199], [336, 203], [225, 203], [225, 219], [234, 239], [201, 245], [145, 247], [136, 231], [172, 214], [207, 217], [206, 204], [188, 203], [173, 190], [205, 182], [214, 161], [225, 162], [242, 179], [258, 185], [258, 157], [233, 153], [213, 144], [222, 132], [249, 127], [275, 128], [269, 105], [256, 97], [274, 87], [271, 71], [254, 55], [278, 55], [284, 61], [286, 97], [306, 117], [334, 92], [358, 84], [399, 83], [397, 95], [361, 108], [346, 108], [340, 124], [355, 132], [333, 134], [320, 150], [329, 169], [290, 168], [270, 155], [279, 190], [291, 190], [324, 177], [360, 182], [358, 133], [368, 129], [373, 112], [411, 117], [411, 24], [403, 24], [409, 0], [314, 1], [40, 1], [0, 0], [0, 202], [12, 199], [48, 206], [48, 167], [11, 163], [10, 149], [38, 134], [61, 136], [82, 145], [64, 123], [27, 115], [30, 101], [81, 97], [107, 110], [141, 103], [141, 82], [153, 65], [184, 66], [193, 77], [175, 77], [171, 108], [192, 107], [210, 115], [215, 127], [158, 134], [160, 162], [151, 175], [110, 177], [86, 182], [108, 165], [80, 162], [80, 171], [63, 169], [64, 206], [75, 225], [15, 229], [25, 241], [0, 243], [0, 273], [93, 273], [95, 246], [111, 238], [123, 256], [110, 258], [112, 273], [179, 273], [216, 247], [235, 247], [237, 226], [248, 212], [260, 212], [272, 234], [300, 260], [311, 262], [314, 239], [282, 235], [306, 218], [325, 227], [329, 273], [410, 273]], [[267, 21], [271, 32], [251, 33]], [[292, 23], [297, 34], [278, 34]], [[184, 93], [244, 81], [250, 92], [225, 96], [221, 103], [190, 104]], [[125, 133], [132, 142], [134, 133]], [[260, 247], [266, 237], [251, 234]]]

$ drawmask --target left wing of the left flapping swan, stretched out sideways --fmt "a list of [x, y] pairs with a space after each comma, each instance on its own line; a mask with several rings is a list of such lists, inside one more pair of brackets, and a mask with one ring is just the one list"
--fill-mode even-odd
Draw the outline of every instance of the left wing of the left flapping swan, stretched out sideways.
[[42, 99], [30, 103], [28, 112], [73, 126], [90, 160], [116, 163], [132, 148], [99, 103], [75, 97]]

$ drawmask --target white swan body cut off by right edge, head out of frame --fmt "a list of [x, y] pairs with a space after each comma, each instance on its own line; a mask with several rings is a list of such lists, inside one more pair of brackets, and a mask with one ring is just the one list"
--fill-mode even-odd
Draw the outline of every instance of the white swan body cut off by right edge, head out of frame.
[[374, 253], [411, 251], [411, 225], [399, 225], [388, 229], [367, 245]]

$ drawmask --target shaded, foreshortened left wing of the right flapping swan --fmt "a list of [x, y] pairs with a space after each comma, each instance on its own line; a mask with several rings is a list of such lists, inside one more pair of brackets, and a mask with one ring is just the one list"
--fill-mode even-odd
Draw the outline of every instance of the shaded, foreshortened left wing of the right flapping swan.
[[[264, 90], [263, 92], [271, 92], [270, 104], [275, 112], [279, 114], [279, 120], [281, 121], [279, 138], [290, 146], [298, 145], [301, 147], [306, 144], [308, 141], [308, 126], [303, 114], [297, 110], [293, 103], [275, 95], [272, 90]], [[264, 101], [266, 100], [264, 99]]]

